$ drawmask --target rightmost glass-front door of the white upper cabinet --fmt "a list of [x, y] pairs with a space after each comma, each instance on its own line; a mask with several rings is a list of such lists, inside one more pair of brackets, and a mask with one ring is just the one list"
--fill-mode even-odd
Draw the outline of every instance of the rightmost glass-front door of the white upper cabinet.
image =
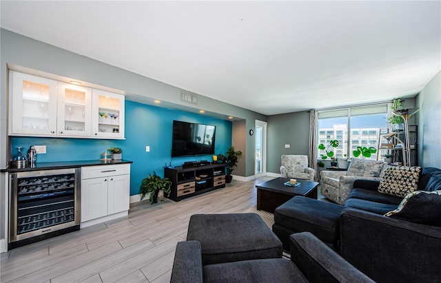
[[92, 90], [92, 136], [124, 138], [124, 99], [121, 94]]

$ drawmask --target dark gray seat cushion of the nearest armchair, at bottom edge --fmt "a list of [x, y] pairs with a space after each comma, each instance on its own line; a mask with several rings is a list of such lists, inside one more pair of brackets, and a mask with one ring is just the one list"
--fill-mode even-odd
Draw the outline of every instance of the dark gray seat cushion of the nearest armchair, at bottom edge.
[[203, 282], [309, 282], [296, 264], [285, 258], [210, 264]]

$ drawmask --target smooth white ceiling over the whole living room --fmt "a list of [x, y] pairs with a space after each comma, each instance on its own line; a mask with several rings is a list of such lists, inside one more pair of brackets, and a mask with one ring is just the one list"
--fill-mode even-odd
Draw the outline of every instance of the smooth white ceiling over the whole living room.
[[1, 1], [1, 27], [271, 115], [415, 96], [441, 1]]

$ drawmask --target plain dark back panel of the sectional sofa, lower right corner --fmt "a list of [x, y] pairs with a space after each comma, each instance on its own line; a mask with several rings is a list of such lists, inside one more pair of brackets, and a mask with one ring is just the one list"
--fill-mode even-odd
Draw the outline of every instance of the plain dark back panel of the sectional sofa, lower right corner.
[[440, 282], [441, 227], [345, 209], [343, 258], [377, 282]]

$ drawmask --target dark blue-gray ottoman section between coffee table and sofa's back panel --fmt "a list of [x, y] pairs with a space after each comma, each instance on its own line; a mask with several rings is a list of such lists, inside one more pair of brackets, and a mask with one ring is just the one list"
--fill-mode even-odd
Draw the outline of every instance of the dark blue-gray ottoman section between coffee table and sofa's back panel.
[[289, 235], [311, 232], [338, 251], [340, 238], [340, 213], [346, 207], [331, 202], [295, 196], [274, 211], [273, 231], [289, 251]]

